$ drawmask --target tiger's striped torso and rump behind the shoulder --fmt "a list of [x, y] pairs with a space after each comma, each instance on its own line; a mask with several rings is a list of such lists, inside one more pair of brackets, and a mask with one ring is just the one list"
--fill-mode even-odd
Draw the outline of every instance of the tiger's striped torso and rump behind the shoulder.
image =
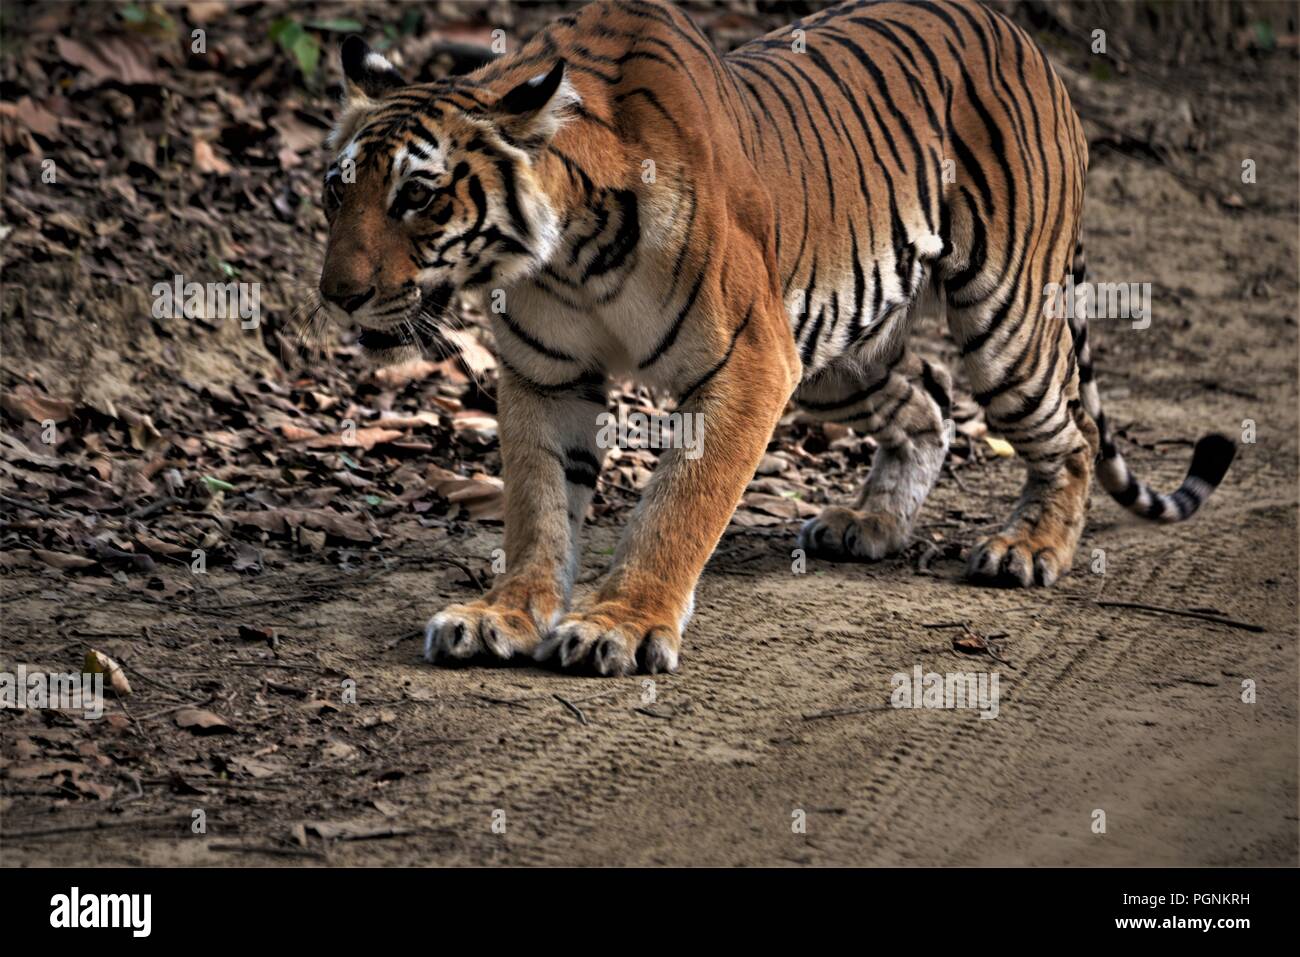
[[[775, 244], [806, 373], [928, 280], [965, 302], [1020, 269], [1070, 270], [1087, 140], [1050, 64], [1001, 14], [850, 3], [727, 62], [777, 130], [753, 152], [785, 225]], [[1020, 242], [1035, 237], [1031, 260]]]

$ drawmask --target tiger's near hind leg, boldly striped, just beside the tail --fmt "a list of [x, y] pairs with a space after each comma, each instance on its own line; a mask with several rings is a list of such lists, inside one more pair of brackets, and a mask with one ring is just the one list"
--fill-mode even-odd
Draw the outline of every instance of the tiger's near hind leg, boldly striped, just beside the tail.
[[971, 550], [966, 571], [982, 584], [1053, 584], [1074, 562], [1088, 508], [1097, 426], [1079, 402], [1065, 320], [1037, 296], [1030, 303], [1024, 312], [1011, 307], [1001, 324], [1008, 332], [993, 335], [987, 334], [987, 311], [949, 311], [988, 428], [1011, 443], [1028, 469], [1010, 520]]

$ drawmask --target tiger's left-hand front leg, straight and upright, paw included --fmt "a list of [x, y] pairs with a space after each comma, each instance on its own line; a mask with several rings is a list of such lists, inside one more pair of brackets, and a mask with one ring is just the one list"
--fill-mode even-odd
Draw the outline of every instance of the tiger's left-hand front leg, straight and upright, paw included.
[[474, 602], [425, 628], [424, 654], [529, 654], [568, 609], [577, 545], [604, 452], [595, 445], [604, 376], [541, 386], [503, 368], [498, 429], [506, 484], [506, 571]]

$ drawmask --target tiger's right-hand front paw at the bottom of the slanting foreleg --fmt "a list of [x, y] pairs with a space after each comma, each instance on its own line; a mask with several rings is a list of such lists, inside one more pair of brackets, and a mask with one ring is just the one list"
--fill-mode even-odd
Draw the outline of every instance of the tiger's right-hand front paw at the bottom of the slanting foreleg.
[[592, 668], [598, 675], [630, 675], [637, 664], [656, 675], [677, 670], [681, 636], [670, 622], [638, 614], [623, 602], [598, 602], [564, 618], [533, 657], [555, 655], [560, 667]]

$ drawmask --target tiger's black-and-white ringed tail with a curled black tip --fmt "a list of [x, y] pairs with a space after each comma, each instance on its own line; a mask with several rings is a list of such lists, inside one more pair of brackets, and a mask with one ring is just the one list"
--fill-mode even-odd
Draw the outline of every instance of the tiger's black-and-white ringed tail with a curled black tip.
[[[1087, 278], [1082, 239], [1074, 247], [1071, 273], [1076, 287]], [[1097, 382], [1092, 369], [1092, 352], [1088, 348], [1088, 319], [1079, 315], [1080, 312], [1082, 309], [1074, 308], [1067, 315], [1070, 316], [1070, 333], [1074, 337], [1075, 358], [1079, 360], [1079, 395], [1084, 411], [1092, 416], [1097, 424], [1097, 432], [1101, 433], [1097, 481], [1115, 502], [1143, 519], [1182, 521], [1191, 518], [1223, 481], [1223, 476], [1236, 455], [1236, 443], [1227, 436], [1213, 433], [1202, 436], [1192, 452], [1192, 464], [1187, 469], [1187, 477], [1173, 494], [1156, 492], [1145, 482], [1139, 481], [1128, 471], [1119, 449], [1115, 447], [1110, 424], [1106, 421], [1105, 412], [1101, 411], [1101, 397], [1097, 393]]]

